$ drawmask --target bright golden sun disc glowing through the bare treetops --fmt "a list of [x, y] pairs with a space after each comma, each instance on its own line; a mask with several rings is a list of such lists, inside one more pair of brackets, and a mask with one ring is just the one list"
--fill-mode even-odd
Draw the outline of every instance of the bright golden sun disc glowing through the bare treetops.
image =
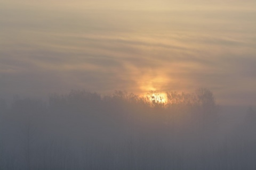
[[166, 104], [167, 95], [159, 91], [150, 91], [146, 95], [147, 100], [152, 104]]

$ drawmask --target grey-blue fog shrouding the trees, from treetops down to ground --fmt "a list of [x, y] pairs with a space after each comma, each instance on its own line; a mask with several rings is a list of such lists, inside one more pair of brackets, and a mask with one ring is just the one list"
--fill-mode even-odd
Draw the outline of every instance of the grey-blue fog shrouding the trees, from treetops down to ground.
[[0, 169], [256, 168], [255, 108], [206, 88], [15, 97], [0, 116]]

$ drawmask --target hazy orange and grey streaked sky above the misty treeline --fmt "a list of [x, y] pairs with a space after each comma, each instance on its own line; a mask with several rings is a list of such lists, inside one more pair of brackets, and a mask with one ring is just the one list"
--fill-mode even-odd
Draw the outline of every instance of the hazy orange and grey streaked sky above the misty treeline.
[[0, 98], [84, 89], [256, 104], [256, 2], [0, 0]]

